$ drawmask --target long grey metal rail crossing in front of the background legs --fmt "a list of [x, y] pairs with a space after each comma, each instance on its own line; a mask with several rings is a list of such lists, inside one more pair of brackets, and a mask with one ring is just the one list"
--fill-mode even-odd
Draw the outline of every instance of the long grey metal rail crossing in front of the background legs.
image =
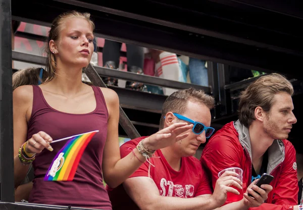
[[[21, 62], [28, 62], [28, 63], [32, 63], [32, 64], [38, 64], [38, 65], [40, 65], [40, 64], [44, 65], [46, 62], [45, 57], [26, 54], [26, 53], [20, 53], [17, 51], [13, 51], [13, 60], [21, 61]], [[173, 80], [168, 80], [168, 79], [162, 79], [159, 77], [135, 74], [132, 72], [115, 71], [113, 69], [99, 67], [99, 66], [94, 66], [93, 68], [96, 70], [96, 72], [100, 76], [114, 77], [114, 78], [118, 78], [118, 79], [142, 82], [145, 84], [159, 85], [159, 86], [163, 86], [163, 87], [170, 87], [170, 88], [176, 88], [176, 89], [187, 89], [187, 88], [193, 87], [196, 89], [203, 89], [206, 93], [211, 92], [210, 87], [189, 84], [189, 83], [185, 83], [185, 82], [178, 82], [178, 81], [173, 81]]]

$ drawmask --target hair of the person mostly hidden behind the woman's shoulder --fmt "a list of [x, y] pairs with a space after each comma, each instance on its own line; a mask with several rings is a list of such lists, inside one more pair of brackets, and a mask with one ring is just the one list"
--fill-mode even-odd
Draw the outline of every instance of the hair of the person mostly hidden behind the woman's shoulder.
[[[40, 73], [42, 70], [42, 78]], [[27, 68], [13, 74], [13, 91], [22, 85], [38, 85], [48, 78], [48, 73], [42, 68]]]

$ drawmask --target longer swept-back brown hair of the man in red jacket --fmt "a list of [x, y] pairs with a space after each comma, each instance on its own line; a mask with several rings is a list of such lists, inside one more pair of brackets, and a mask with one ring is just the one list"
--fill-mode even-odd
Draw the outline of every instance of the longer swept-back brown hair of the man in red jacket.
[[292, 96], [292, 84], [282, 75], [272, 73], [262, 76], [252, 82], [241, 92], [239, 102], [239, 121], [249, 127], [255, 118], [255, 109], [261, 107], [269, 112], [274, 103], [274, 96], [279, 92], [286, 92]]

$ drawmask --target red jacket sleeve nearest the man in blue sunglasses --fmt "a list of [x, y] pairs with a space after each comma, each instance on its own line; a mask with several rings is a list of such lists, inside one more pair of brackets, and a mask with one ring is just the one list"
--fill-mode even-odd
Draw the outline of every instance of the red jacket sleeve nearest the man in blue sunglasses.
[[215, 189], [218, 173], [226, 168], [240, 167], [241, 150], [227, 135], [217, 135], [208, 142], [200, 158], [201, 165], [209, 174]]

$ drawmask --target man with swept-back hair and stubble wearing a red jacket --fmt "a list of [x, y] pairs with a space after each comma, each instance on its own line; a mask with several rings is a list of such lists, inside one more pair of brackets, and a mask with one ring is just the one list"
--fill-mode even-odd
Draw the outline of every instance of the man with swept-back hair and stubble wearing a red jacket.
[[263, 173], [274, 176], [266, 203], [251, 209], [303, 209], [296, 205], [295, 149], [286, 140], [296, 123], [292, 94], [291, 83], [279, 74], [252, 82], [240, 95], [239, 119], [217, 131], [201, 155], [213, 186], [218, 173], [230, 167], [243, 170], [243, 191]]

